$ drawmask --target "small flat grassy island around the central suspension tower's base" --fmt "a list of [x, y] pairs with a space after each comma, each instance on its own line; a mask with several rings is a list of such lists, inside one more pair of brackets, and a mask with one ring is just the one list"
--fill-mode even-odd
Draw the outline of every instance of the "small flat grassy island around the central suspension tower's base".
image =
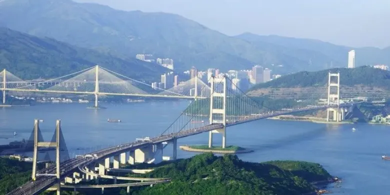
[[222, 148], [221, 146], [212, 146], [209, 148], [208, 145], [181, 145], [179, 148], [185, 151], [211, 153], [248, 153], [253, 151], [236, 145], [228, 145], [225, 148]]

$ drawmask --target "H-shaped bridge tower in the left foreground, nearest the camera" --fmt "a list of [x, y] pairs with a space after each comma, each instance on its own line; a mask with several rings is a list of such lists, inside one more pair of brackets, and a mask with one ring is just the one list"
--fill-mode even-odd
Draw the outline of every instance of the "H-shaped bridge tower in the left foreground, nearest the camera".
[[[56, 126], [55, 126], [55, 142], [40, 142], [38, 141], [38, 130], [39, 130], [39, 120], [35, 119], [34, 120], [34, 151], [33, 151], [33, 156], [32, 156], [32, 174], [31, 178], [32, 180], [36, 179], [37, 175], [48, 175], [48, 176], [56, 176], [57, 178], [57, 195], [60, 194], [60, 171], [59, 171], [59, 140], [60, 140], [60, 130], [61, 130], [61, 121], [57, 120], [56, 121]], [[36, 161], [38, 157], [38, 147], [55, 147], [55, 174], [36, 174]]]

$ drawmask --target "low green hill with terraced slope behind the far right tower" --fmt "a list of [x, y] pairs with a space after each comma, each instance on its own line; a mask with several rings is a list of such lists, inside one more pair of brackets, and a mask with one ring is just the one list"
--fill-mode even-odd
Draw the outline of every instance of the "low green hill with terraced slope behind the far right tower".
[[390, 89], [390, 71], [370, 66], [360, 66], [356, 68], [332, 68], [314, 72], [297, 72], [281, 76], [269, 82], [256, 84], [250, 90], [260, 88], [324, 86], [328, 82], [328, 72], [340, 72], [341, 85], [364, 85]]

